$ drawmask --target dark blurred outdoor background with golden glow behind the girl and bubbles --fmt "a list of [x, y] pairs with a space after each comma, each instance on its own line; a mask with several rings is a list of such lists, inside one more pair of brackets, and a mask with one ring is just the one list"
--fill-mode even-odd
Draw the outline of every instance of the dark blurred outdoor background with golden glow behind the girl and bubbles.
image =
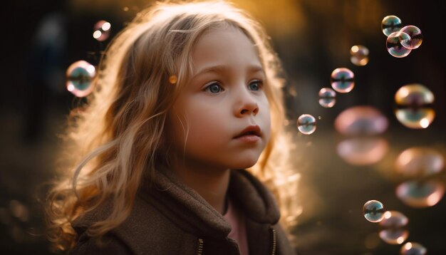
[[[294, 134], [290, 142], [295, 145], [294, 168], [300, 175], [296, 196], [301, 215], [292, 230], [296, 251], [400, 254], [403, 244], [411, 241], [425, 246], [427, 254], [446, 254], [445, 25], [441, 18], [445, 9], [440, 1], [234, 2], [264, 24], [286, 71], [289, 121], [285, 125]], [[149, 4], [142, 0], [3, 4], [0, 254], [49, 254], [38, 197], [45, 193], [41, 184], [56, 175], [58, 134], [78, 102], [66, 90], [66, 69], [78, 60], [96, 65], [110, 38]], [[405, 58], [390, 56], [386, 50], [381, 21], [388, 15], [422, 31], [420, 48]], [[110, 22], [110, 38], [97, 41], [93, 26], [101, 20]], [[351, 62], [354, 45], [368, 48], [365, 66]], [[336, 104], [324, 108], [318, 92], [331, 87], [335, 68], [353, 71], [355, 87], [338, 93]], [[395, 104], [395, 93], [412, 83], [424, 85], [435, 96], [433, 103], [424, 105], [431, 109], [430, 116], [435, 113], [425, 128], [406, 127], [403, 123], [411, 120], [401, 123], [395, 117], [395, 110], [401, 108]], [[334, 125], [344, 110], [358, 105], [368, 110], [354, 108], [353, 117], [340, 120], [344, 125]], [[418, 102], [415, 111], [421, 106]], [[311, 135], [296, 127], [302, 114], [316, 119]], [[347, 125], [348, 121], [353, 124]], [[388, 225], [368, 222], [363, 204], [370, 199], [405, 215], [408, 223], [392, 223], [394, 217], [387, 219]]]

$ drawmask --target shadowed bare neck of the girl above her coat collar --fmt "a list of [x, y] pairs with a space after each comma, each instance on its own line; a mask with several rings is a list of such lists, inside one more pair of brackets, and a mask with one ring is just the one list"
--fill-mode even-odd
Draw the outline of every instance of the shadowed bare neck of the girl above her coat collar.
[[226, 194], [229, 185], [229, 169], [216, 170], [212, 167], [180, 163], [172, 167], [182, 182], [194, 189], [219, 213], [226, 211]]

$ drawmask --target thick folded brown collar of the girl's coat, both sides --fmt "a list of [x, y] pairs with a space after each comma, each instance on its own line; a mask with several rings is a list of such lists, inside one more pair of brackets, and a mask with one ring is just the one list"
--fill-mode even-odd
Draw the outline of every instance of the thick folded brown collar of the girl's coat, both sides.
[[[185, 231], [199, 236], [226, 239], [229, 223], [194, 189], [170, 170], [155, 173], [153, 185], [142, 184], [140, 197]], [[232, 170], [228, 194], [245, 217], [262, 224], [276, 224], [279, 209], [271, 193], [246, 170]]]

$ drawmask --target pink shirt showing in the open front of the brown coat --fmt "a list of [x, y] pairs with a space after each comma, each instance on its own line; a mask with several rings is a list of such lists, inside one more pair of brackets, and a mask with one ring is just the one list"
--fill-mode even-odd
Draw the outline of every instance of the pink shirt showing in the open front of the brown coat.
[[249, 255], [247, 227], [244, 224], [244, 215], [237, 210], [237, 207], [234, 207], [231, 200], [228, 202], [228, 208], [223, 217], [231, 224], [232, 229], [228, 237], [237, 241], [240, 254]]

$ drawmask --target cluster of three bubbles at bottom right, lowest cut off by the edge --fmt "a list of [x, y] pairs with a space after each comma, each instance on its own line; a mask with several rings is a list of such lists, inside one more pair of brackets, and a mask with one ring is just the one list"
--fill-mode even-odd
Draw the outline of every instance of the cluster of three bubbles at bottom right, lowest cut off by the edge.
[[[369, 222], [379, 224], [380, 239], [387, 244], [403, 244], [408, 239], [409, 219], [403, 213], [385, 211], [383, 203], [370, 200], [363, 206], [363, 215]], [[407, 242], [401, 247], [400, 254], [423, 255], [426, 251], [421, 244]]]

